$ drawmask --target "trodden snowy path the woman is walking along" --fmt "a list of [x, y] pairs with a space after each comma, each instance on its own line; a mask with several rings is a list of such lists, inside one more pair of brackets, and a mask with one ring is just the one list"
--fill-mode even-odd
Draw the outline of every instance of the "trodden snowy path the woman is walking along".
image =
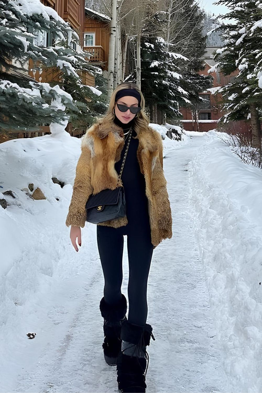
[[[223, 368], [222, 343], [213, 325], [216, 315], [198, 251], [197, 221], [192, 222], [195, 201], [188, 169], [205, 143], [203, 136], [194, 136], [164, 159], [174, 236], [154, 251], [148, 278], [147, 321], [156, 338], [148, 347], [148, 393], [232, 391]], [[50, 248], [60, 241], [59, 261], [52, 279], [41, 286], [40, 296], [31, 300], [32, 311], [23, 309], [25, 326], [34, 326], [37, 336], [15, 348], [16, 361], [4, 364], [0, 391], [117, 392], [116, 369], [104, 362], [101, 346], [99, 301], [104, 280], [95, 226], [82, 231], [79, 253], [65, 248], [64, 234], [52, 243], [50, 228], [43, 230], [43, 237], [49, 233]], [[68, 275], [70, 259], [75, 268]], [[127, 297], [126, 238], [123, 274], [122, 292]]]

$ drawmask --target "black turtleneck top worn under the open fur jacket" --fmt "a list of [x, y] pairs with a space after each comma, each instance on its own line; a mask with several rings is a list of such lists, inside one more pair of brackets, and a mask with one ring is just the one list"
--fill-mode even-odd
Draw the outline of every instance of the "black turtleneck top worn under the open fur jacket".
[[[121, 180], [125, 189], [126, 196], [126, 217], [128, 222], [136, 224], [145, 224], [149, 222], [148, 215], [148, 200], [145, 191], [145, 177], [140, 171], [139, 163], [137, 160], [137, 147], [139, 140], [134, 139], [136, 131], [134, 130], [134, 119], [129, 123], [122, 123], [116, 116], [114, 119], [115, 124], [119, 125], [124, 133], [128, 132], [130, 127], [132, 129], [131, 140], [126, 154], [126, 160], [122, 171]], [[121, 165], [125, 155], [129, 134], [125, 135], [125, 145], [121, 152], [121, 158], [115, 163], [115, 170], [120, 173]], [[145, 222], [146, 221], [146, 222]]]

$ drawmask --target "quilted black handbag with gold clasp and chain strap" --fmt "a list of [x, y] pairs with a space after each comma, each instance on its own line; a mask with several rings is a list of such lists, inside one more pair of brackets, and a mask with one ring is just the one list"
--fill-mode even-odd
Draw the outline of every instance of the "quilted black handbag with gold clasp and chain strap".
[[99, 224], [99, 222], [114, 220], [119, 217], [125, 217], [126, 215], [125, 190], [123, 185], [119, 186], [119, 181], [125, 164], [131, 135], [132, 131], [130, 129], [117, 187], [114, 190], [106, 188], [95, 195], [92, 194], [86, 202], [86, 221], [92, 222], [92, 224]]

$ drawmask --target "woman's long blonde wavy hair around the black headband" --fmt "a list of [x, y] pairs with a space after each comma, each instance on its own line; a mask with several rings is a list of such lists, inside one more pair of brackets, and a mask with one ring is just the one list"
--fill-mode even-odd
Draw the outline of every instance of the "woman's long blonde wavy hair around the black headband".
[[[136, 89], [139, 92], [139, 94], [141, 95], [140, 106], [142, 109], [140, 110], [140, 112], [138, 112], [138, 116], [136, 115], [134, 118], [134, 129], [138, 135], [140, 130], [147, 131], [149, 119], [144, 112], [145, 98], [136, 83], [132, 83], [132, 82], [120, 83], [112, 92], [106, 113], [104, 114], [103, 117], [97, 118], [97, 122], [99, 124], [104, 123], [104, 122], [114, 123], [115, 114], [113, 113], [113, 109], [114, 109], [114, 105], [115, 105], [115, 95], [117, 94], [117, 92], [119, 92], [119, 90], [123, 90], [123, 89]], [[136, 136], [136, 138], [137, 138], [137, 136]]]

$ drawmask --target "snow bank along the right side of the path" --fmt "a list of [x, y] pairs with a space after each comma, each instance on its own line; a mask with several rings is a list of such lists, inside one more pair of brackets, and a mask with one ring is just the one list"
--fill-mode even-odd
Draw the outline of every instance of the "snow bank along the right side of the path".
[[231, 391], [254, 392], [262, 382], [262, 172], [218, 135], [203, 134], [189, 163], [192, 226]]

